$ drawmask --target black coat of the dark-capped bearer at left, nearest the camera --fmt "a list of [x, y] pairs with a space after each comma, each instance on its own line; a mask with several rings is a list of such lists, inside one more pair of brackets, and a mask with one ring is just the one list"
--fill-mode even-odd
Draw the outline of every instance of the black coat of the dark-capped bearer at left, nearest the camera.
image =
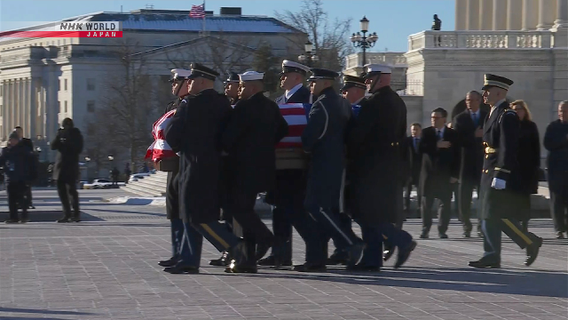
[[219, 220], [221, 134], [232, 110], [224, 94], [204, 90], [182, 100], [166, 127], [166, 141], [181, 153], [177, 182], [185, 221]]

